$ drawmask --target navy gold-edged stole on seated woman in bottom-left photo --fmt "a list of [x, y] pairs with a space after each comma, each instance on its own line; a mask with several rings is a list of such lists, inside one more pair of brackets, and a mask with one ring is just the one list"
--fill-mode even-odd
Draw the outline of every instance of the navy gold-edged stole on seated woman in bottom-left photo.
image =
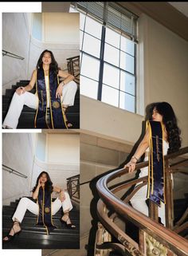
[[56, 226], [52, 219], [52, 195], [45, 191], [45, 187], [40, 187], [37, 197], [39, 214], [37, 216], [37, 225], [45, 226], [46, 234], [49, 234]]

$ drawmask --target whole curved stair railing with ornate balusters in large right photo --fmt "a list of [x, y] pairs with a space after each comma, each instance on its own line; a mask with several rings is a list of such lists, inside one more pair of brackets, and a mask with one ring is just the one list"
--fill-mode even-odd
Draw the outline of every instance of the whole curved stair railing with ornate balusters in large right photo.
[[[170, 174], [174, 168], [186, 166], [188, 160], [178, 160], [178, 162], [169, 165], [169, 160], [173, 160], [178, 156], [182, 156], [188, 152], [188, 147], [180, 149], [178, 152], [165, 156], [166, 162], [166, 227], [158, 223], [158, 209], [150, 204], [150, 217], [136, 211], [128, 202], [139, 188], [147, 185], [147, 176], [127, 180], [125, 182], [116, 183], [112, 187], [108, 183], [123, 175], [127, 175], [128, 171], [120, 169], [113, 171], [108, 175], [104, 175], [97, 183], [96, 188], [100, 195], [97, 204], [97, 214], [100, 219], [98, 230], [96, 233], [95, 256], [109, 255], [111, 250], [117, 250], [122, 255], [134, 256], [152, 256], [152, 255], [173, 255], [187, 256], [188, 242], [173, 231], [173, 203], [170, 187]], [[135, 171], [148, 166], [148, 161], [137, 163]], [[124, 200], [119, 199], [117, 192], [139, 183], [138, 186]], [[169, 190], [170, 189], [170, 190]], [[167, 208], [171, 207], [171, 208]], [[125, 230], [121, 229], [116, 223], [116, 218], [123, 220]], [[135, 241], [126, 233], [126, 223], [131, 221], [139, 230], [139, 241]], [[116, 242], [112, 242], [112, 238], [116, 238]]]

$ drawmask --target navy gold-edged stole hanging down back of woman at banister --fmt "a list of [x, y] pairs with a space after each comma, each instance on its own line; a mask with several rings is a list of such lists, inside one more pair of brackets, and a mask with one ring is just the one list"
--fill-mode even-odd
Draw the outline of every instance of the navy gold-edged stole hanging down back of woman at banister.
[[163, 124], [157, 121], [147, 121], [147, 128], [150, 134], [147, 199], [151, 199], [160, 206], [161, 202], [165, 203]]

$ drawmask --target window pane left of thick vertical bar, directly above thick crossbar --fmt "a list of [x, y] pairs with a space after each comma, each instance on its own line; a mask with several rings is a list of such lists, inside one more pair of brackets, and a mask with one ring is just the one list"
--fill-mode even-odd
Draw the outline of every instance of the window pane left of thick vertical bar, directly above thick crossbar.
[[83, 50], [86, 53], [100, 57], [100, 40], [88, 35], [87, 33], [84, 33]]

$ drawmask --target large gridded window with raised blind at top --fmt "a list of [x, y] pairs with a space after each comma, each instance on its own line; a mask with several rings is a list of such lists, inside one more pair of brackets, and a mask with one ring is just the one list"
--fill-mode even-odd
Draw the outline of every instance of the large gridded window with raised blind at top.
[[80, 11], [80, 93], [135, 112], [136, 17], [115, 2], [72, 5]]

